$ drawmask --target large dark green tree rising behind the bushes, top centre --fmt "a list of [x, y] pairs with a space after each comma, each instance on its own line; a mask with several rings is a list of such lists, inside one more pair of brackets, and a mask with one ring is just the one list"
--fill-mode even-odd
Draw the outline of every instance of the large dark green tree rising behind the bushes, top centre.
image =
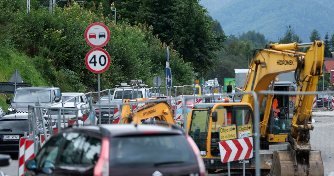
[[173, 43], [173, 49], [185, 63], [192, 63], [195, 72], [212, 69], [226, 36], [216, 36], [214, 22], [207, 18], [199, 0], [120, 0], [118, 4], [122, 19], [132, 25], [145, 22], [153, 26], [153, 33], [159, 35], [161, 42]]

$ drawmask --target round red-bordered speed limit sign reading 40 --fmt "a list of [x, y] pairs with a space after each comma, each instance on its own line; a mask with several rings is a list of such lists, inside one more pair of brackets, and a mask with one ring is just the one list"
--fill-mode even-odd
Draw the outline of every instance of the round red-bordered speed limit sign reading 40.
[[110, 65], [110, 56], [102, 48], [94, 48], [86, 54], [85, 63], [87, 68], [94, 73], [106, 71]]

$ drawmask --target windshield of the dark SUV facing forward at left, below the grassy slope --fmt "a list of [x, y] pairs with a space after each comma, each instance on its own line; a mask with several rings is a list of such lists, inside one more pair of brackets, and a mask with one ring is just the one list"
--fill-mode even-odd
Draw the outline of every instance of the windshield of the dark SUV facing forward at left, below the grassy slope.
[[13, 102], [15, 103], [35, 103], [40, 99], [41, 103], [51, 102], [51, 91], [49, 90], [17, 90], [15, 91]]

